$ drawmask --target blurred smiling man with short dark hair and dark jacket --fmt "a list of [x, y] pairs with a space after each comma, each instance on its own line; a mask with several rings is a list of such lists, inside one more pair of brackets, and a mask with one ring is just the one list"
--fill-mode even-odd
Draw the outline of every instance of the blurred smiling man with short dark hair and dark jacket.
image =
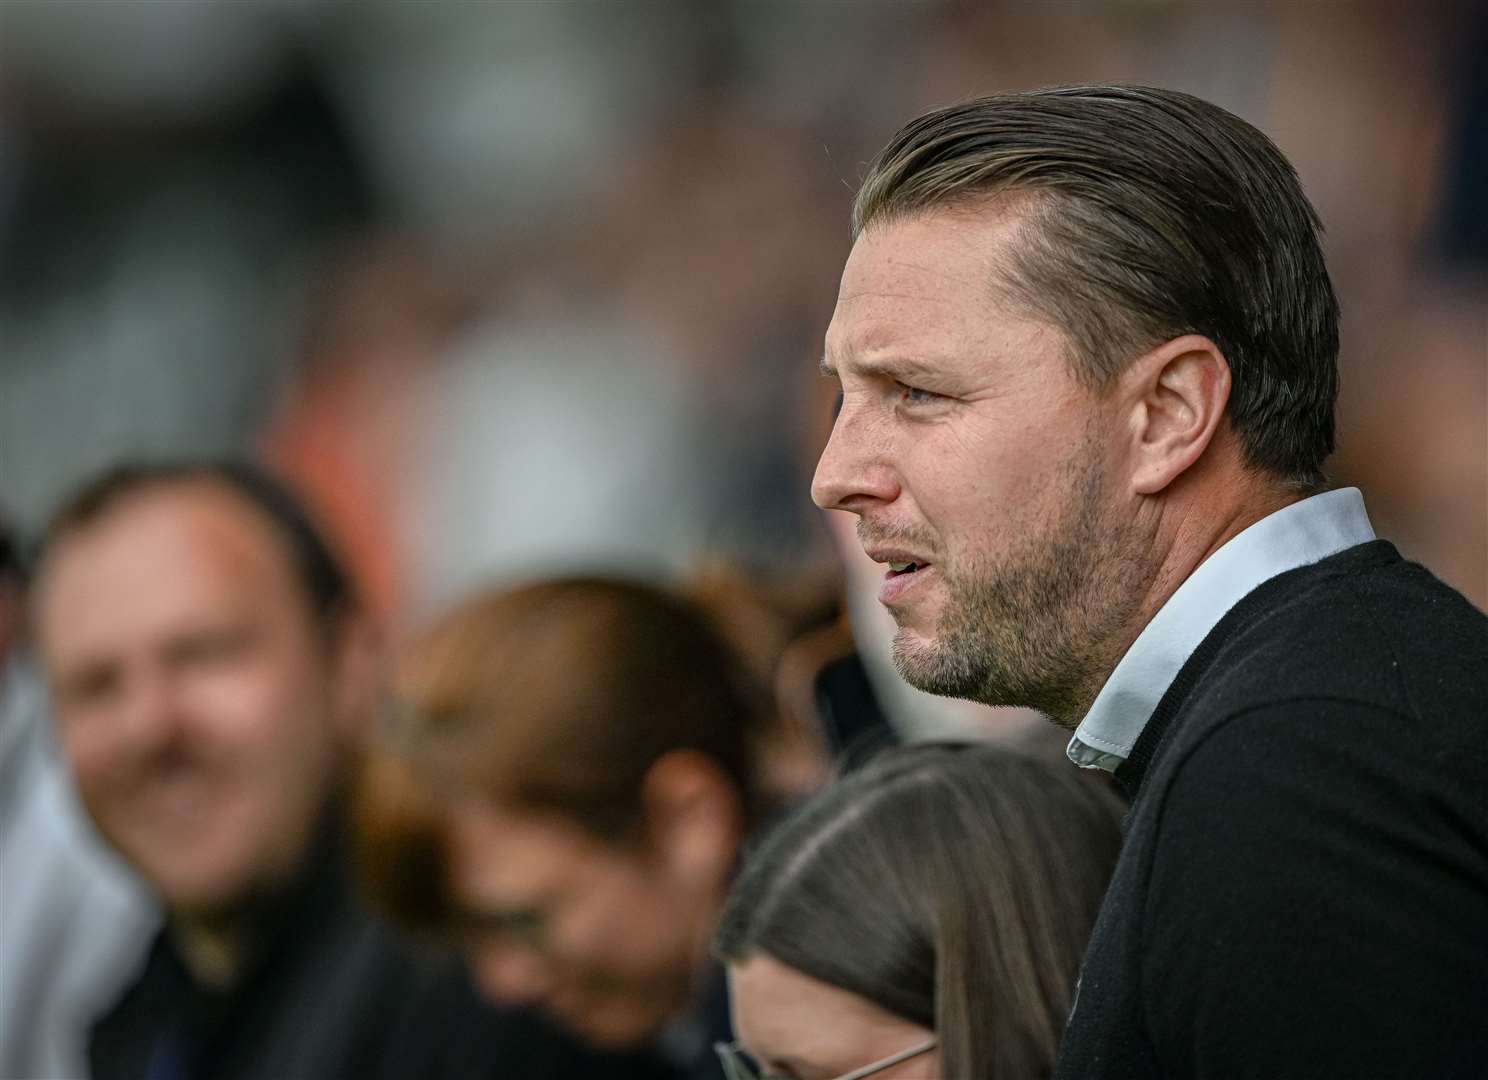
[[604, 1076], [353, 896], [341, 791], [375, 650], [266, 478], [98, 479], [48, 533], [34, 620], [83, 805], [167, 912], [94, 1028], [98, 1080]]

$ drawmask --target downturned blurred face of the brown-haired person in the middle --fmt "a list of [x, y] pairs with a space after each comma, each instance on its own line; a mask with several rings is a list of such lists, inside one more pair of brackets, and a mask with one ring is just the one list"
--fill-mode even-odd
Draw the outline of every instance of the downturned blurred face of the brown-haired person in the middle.
[[542, 1006], [604, 1047], [653, 1038], [689, 1006], [708, 912], [646, 851], [475, 800], [452, 817], [449, 878], [491, 1001]]

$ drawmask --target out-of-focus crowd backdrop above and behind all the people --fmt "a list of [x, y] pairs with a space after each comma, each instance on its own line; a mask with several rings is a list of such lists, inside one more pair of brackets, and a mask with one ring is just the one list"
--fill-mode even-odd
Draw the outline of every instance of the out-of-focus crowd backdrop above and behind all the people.
[[248, 451], [394, 637], [478, 582], [839, 588], [806, 495], [865, 164], [1061, 82], [1268, 131], [1344, 305], [1341, 483], [1488, 605], [1488, 7], [0, 3], [0, 513]]

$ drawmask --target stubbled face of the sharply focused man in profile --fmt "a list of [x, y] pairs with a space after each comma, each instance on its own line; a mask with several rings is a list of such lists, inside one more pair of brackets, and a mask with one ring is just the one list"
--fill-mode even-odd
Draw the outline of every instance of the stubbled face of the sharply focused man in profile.
[[859, 515], [890, 564], [879, 601], [909, 683], [1065, 719], [1149, 556], [1115, 495], [1107, 402], [1073, 376], [1062, 333], [998, 299], [1018, 228], [931, 211], [859, 237], [827, 330], [842, 408], [812, 497]]

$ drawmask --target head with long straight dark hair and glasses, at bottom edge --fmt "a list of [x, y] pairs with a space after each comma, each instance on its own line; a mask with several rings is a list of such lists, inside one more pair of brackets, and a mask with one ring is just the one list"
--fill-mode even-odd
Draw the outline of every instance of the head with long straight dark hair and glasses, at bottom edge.
[[[995, 745], [890, 751], [802, 806], [729, 893], [716, 952], [760, 1068], [1048, 1076], [1122, 803]], [[879, 1076], [875, 1073], [875, 1077]]]

